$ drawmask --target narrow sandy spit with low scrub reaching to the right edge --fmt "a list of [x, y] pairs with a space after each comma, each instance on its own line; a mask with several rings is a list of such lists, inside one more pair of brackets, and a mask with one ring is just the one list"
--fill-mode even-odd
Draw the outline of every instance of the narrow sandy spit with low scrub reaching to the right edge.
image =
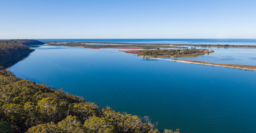
[[[146, 58], [151, 58], [151, 57], [146, 57]], [[223, 67], [226, 67], [226, 68], [237, 68], [237, 69], [245, 69], [245, 70], [256, 71], [256, 66], [254, 66], [254, 65], [217, 64], [217, 63], [210, 63], [210, 62], [203, 62], [203, 61], [162, 59], [162, 58], [152, 58], [152, 59], [170, 60], [170, 61], [177, 61], [177, 62], [184, 62], [184, 63], [191, 63], [191, 64], [201, 64], [201, 65], [211, 65], [211, 66], [223, 66]]]

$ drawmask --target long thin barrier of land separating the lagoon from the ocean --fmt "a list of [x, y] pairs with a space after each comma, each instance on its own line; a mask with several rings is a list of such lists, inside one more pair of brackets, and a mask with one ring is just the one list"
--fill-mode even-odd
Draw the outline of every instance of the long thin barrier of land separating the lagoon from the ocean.
[[[41, 41], [44, 43], [77, 43], [70, 41]], [[106, 45], [173, 45], [173, 46], [193, 46], [193, 47], [234, 47], [234, 48], [256, 48], [256, 45], [217, 45], [217, 44], [162, 44], [162, 43], [120, 43], [120, 42], [79, 42], [79, 43], [102, 43]]]

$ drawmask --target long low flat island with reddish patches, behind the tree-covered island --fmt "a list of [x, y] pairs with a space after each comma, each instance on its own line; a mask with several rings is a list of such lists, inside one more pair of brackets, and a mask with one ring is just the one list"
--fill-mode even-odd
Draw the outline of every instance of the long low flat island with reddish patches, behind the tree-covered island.
[[84, 47], [84, 48], [90, 48], [90, 49], [102, 49], [102, 48], [112, 48], [112, 49], [157, 49], [157, 48], [163, 48], [163, 49], [185, 49], [187, 47], [182, 46], [156, 46], [156, 45], [89, 45], [86, 43], [50, 43], [48, 45], [53, 46], [71, 46], [71, 47]]

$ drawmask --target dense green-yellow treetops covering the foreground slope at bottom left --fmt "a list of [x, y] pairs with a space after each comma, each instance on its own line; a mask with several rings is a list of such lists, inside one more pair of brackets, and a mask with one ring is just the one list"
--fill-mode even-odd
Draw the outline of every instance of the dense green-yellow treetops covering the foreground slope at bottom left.
[[102, 108], [4, 69], [0, 69], [0, 129], [6, 133], [160, 133], [148, 117]]

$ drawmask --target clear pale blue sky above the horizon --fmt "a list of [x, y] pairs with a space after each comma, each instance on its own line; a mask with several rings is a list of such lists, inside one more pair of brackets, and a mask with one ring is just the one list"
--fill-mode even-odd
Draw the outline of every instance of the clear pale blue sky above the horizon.
[[0, 39], [256, 38], [256, 0], [1, 0]]

